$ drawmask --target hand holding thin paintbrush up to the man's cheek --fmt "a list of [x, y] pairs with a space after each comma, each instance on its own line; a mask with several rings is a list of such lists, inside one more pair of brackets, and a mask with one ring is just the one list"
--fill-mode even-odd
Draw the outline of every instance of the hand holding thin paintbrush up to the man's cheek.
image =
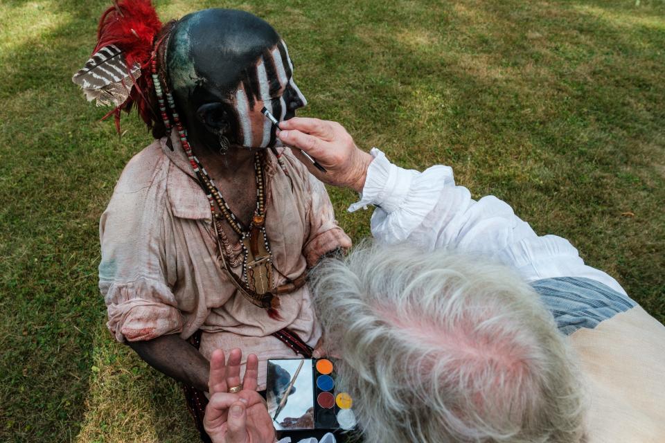
[[[323, 183], [351, 188], [362, 192], [367, 168], [373, 158], [359, 150], [346, 129], [337, 122], [318, 118], [294, 117], [279, 123], [277, 136], [308, 170]], [[301, 154], [303, 150], [314, 157], [328, 172], [323, 173]]]

